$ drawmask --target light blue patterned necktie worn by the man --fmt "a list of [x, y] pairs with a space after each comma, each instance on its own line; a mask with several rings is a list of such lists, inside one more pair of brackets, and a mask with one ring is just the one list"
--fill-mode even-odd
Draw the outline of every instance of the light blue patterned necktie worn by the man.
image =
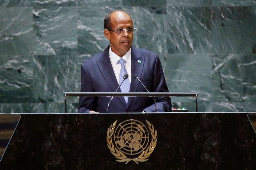
[[[120, 70], [120, 74], [119, 74], [119, 85], [122, 83], [123, 79], [124, 79], [124, 75], [125, 74], [128, 74], [125, 67], [124, 67], [124, 63], [125, 63], [125, 60], [120, 58], [118, 60], [118, 62], [121, 64], [121, 70]], [[123, 84], [121, 85], [121, 91], [123, 93], [125, 92], [129, 92], [130, 91], [130, 81], [129, 81], [129, 77], [123, 82]], [[128, 102], [128, 96], [124, 96], [124, 100], [127, 104]]]

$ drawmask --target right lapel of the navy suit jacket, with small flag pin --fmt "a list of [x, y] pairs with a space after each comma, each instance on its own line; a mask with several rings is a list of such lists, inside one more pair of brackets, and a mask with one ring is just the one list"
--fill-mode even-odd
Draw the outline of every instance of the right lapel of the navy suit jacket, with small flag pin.
[[[131, 71], [131, 85], [130, 85], [130, 92], [136, 92], [139, 81], [135, 80], [133, 77], [134, 74], [137, 74], [139, 78], [141, 78], [143, 67], [144, 67], [144, 59], [145, 57], [141, 55], [139, 50], [135, 47], [131, 47], [131, 61], [132, 61], [132, 71]], [[141, 63], [140, 63], [141, 61]], [[127, 103], [127, 108], [132, 102], [134, 97], [129, 97], [128, 98], [128, 103]]]

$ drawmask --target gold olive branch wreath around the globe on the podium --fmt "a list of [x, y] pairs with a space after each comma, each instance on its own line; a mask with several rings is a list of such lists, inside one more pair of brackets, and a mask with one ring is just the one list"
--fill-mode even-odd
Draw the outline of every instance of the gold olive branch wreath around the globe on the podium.
[[110, 152], [117, 158], [117, 162], [125, 162], [125, 164], [127, 164], [130, 161], [134, 161], [137, 164], [139, 164], [139, 162], [145, 162], [148, 160], [148, 157], [151, 155], [151, 153], [153, 152], [153, 150], [155, 149], [156, 145], [157, 145], [157, 130], [154, 128], [154, 126], [147, 121], [148, 124], [148, 128], [150, 130], [151, 133], [151, 142], [149, 144], [149, 146], [147, 147], [146, 150], [144, 150], [137, 158], [128, 158], [122, 151], [119, 151], [113, 144], [112, 140], [113, 140], [113, 134], [114, 134], [114, 130], [116, 127], [116, 123], [117, 120], [110, 125], [110, 127], [107, 130], [107, 145], [108, 148], [110, 150]]

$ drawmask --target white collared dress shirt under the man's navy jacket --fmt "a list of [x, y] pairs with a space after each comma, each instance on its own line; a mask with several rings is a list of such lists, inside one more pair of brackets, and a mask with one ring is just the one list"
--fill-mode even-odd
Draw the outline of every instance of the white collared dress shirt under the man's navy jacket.
[[132, 61], [131, 61], [131, 49], [123, 56], [123, 57], [119, 57], [117, 54], [115, 54], [112, 49], [111, 49], [111, 45], [109, 46], [109, 58], [116, 76], [116, 80], [118, 82], [118, 84], [120, 84], [119, 82], [119, 74], [120, 74], [120, 70], [121, 70], [121, 64], [118, 62], [118, 60], [120, 58], [124, 59], [126, 62], [124, 63], [124, 67], [129, 75], [128, 79], [130, 81], [131, 84], [131, 72], [132, 72]]

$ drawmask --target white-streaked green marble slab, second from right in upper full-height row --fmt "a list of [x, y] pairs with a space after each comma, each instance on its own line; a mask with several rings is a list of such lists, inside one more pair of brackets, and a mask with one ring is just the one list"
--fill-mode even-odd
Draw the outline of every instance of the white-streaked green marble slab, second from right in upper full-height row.
[[164, 15], [169, 54], [211, 54], [211, 8], [169, 7]]

